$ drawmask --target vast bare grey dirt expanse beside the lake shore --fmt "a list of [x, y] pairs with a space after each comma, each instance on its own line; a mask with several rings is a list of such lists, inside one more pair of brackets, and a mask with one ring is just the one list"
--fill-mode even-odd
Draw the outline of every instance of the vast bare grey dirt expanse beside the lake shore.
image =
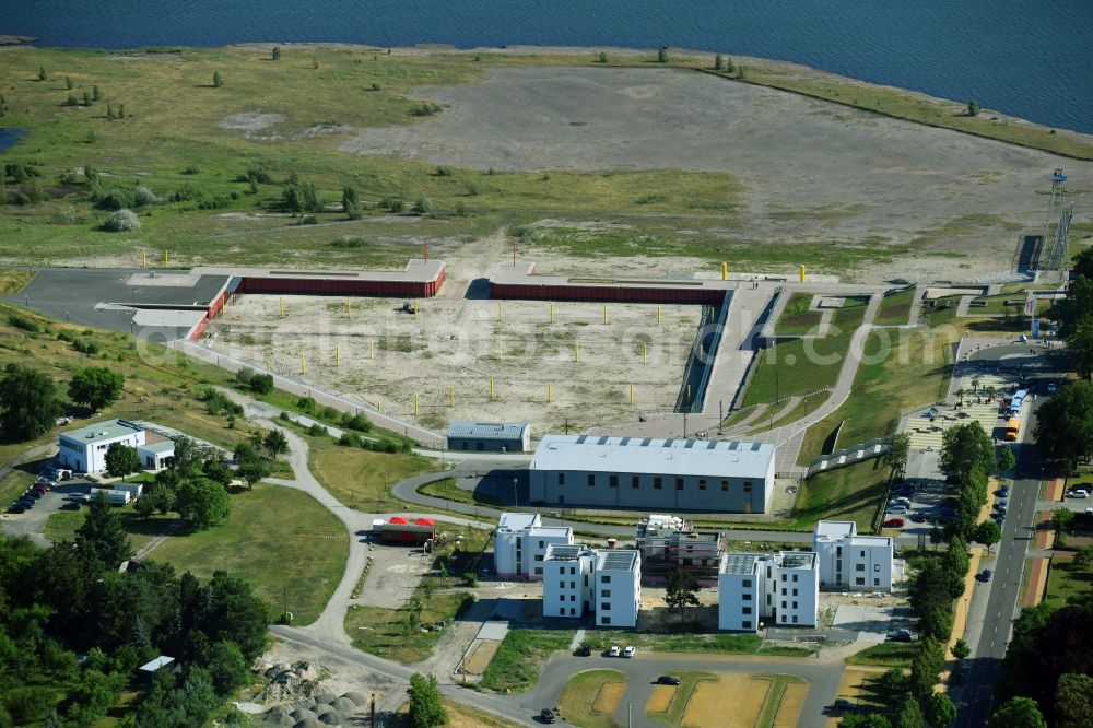
[[[1001, 273], [1018, 232], [1043, 228], [1037, 192], [1051, 169], [1065, 167], [1080, 195], [1093, 186], [1093, 163], [693, 72], [501, 68], [422, 96], [444, 114], [363, 130], [342, 149], [481, 169], [730, 172], [745, 189], [733, 237], [914, 242], [922, 253], [910, 270], [860, 271], [868, 280]], [[961, 272], [954, 254], [975, 266]]]

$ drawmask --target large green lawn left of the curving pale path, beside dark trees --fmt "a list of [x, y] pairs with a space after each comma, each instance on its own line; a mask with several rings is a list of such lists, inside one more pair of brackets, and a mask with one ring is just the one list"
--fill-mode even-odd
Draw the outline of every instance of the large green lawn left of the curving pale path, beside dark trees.
[[232, 515], [205, 531], [168, 538], [150, 559], [200, 578], [240, 576], [280, 614], [287, 592], [294, 623], [322, 611], [345, 570], [349, 536], [338, 518], [299, 491], [259, 484], [232, 495]]

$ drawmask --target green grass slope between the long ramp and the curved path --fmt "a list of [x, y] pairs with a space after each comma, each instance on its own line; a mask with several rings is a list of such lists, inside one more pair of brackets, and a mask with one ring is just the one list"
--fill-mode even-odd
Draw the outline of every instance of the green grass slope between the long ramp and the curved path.
[[748, 379], [743, 407], [806, 395], [835, 384], [865, 307], [839, 309], [823, 339], [798, 339], [767, 348]]

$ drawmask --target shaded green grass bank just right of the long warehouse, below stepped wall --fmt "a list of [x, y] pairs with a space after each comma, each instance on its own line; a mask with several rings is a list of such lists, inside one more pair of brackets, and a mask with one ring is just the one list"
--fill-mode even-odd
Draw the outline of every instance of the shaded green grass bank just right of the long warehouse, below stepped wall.
[[853, 520], [860, 531], [872, 532], [888, 477], [882, 458], [873, 458], [802, 480], [794, 504], [794, 524], [810, 529], [823, 519]]

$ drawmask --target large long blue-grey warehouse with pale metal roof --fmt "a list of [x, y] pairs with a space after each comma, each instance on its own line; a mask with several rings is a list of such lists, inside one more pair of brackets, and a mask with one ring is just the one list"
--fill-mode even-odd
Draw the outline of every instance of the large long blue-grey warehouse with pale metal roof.
[[545, 435], [529, 469], [532, 503], [765, 513], [769, 443]]

